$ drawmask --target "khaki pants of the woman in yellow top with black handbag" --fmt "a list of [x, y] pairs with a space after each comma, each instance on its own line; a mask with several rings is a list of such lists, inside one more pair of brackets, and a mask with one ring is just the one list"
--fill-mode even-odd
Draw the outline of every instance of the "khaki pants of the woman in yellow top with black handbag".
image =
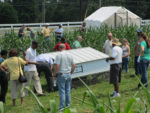
[[24, 88], [23, 83], [20, 83], [18, 80], [10, 80], [10, 87], [11, 87], [11, 97], [12, 97], [12, 99], [17, 98], [17, 88], [19, 88], [20, 97], [24, 97], [24, 92], [22, 92], [22, 90]]

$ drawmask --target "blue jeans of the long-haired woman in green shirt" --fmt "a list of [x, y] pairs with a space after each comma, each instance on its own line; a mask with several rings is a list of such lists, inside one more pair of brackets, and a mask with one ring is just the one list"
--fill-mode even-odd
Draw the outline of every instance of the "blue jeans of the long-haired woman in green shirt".
[[141, 64], [140, 67], [141, 67], [141, 74], [142, 74], [141, 82], [145, 85], [145, 87], [148, 87], [147, 69], [149, 66], [149, 60], [146, 59], [141, 60], [140, 64]]

